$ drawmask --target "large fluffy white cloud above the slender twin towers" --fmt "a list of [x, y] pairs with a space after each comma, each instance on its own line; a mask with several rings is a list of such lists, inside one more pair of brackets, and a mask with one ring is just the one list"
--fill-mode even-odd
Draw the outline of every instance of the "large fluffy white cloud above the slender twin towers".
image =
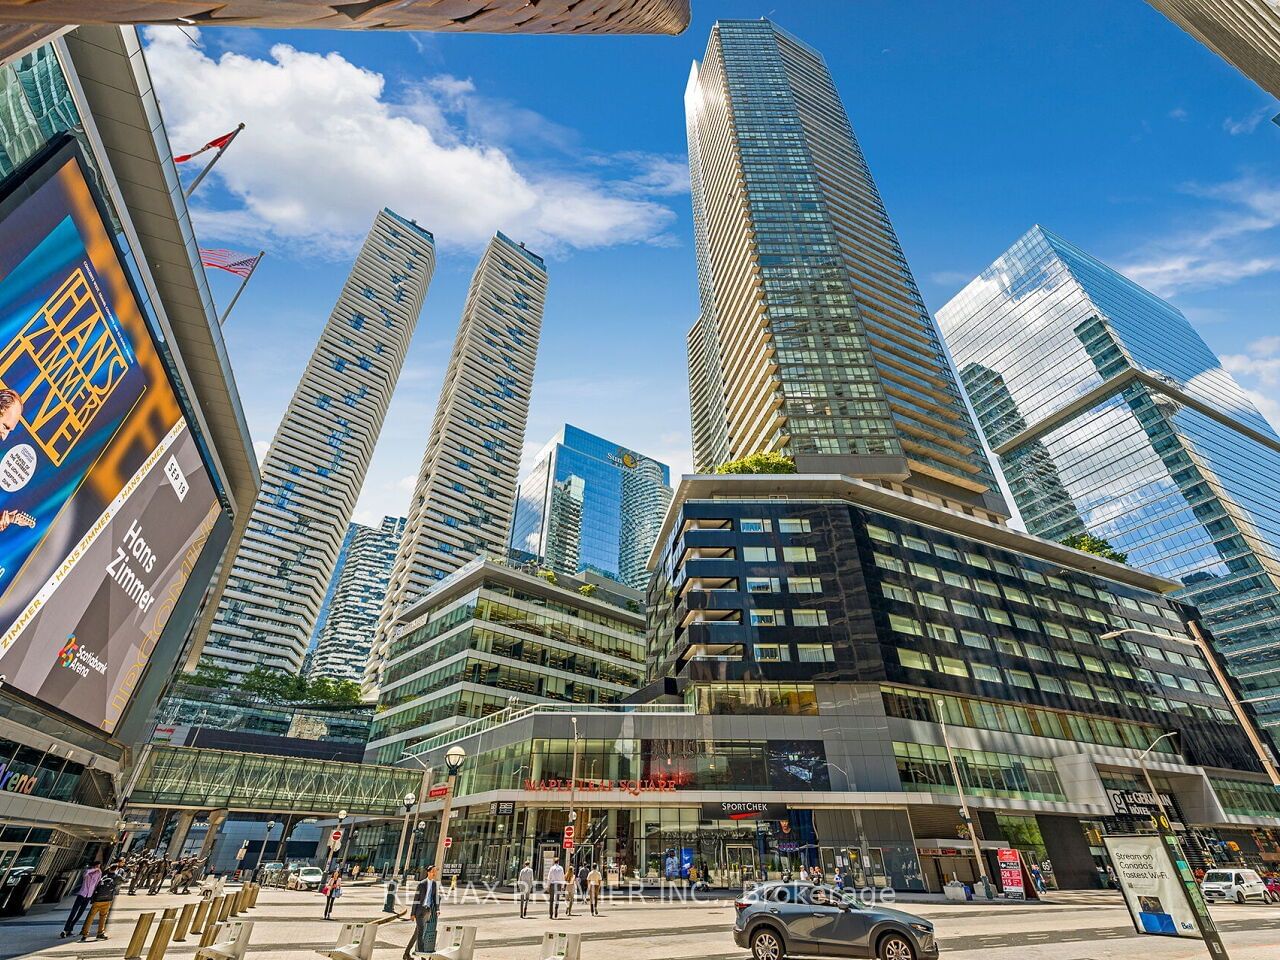
[[637, 192], [632, 177], [522, 164], [507, 138], [572, 132], [480, 99], [470, 79], [440, 74], [397, 97], [381, 74], [337, 52], [276, 44], [268, 58], [214, 58], [177, 29], [146, 36], [175, 148], [246, 124], [212, 174], [237, 206], [196, 211], [207, 237], [340, 259], [390, 206], [442, 246], [479, 247], [495, 229], [544, 253], [668, 242], [675, 212], [652, 198], [667, 192], [662, 183]]

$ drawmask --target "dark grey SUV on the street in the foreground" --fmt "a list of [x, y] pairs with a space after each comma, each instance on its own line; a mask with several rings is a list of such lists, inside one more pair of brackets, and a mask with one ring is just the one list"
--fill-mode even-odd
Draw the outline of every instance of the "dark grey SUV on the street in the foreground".
[[733, 942], [755, 960], [792, 956], [934, 960], [933, 924], [813, 883], [771, 882], [733, 904]]

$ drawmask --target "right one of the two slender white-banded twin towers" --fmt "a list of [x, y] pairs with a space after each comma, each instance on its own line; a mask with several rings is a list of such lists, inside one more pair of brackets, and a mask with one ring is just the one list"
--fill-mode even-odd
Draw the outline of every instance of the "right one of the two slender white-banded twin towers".
[[471, 278], [410, 502], [366, 685], [402, 607], [467, 561], [503, 557], [547, 297], [543, 259], [498, 233]]

